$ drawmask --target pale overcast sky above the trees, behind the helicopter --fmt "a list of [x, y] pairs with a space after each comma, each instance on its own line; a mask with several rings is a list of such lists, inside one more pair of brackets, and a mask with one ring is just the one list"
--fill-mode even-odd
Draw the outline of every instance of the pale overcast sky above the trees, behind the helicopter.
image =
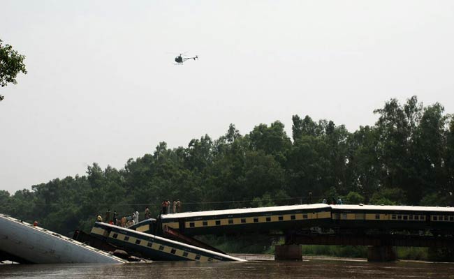
[[[0, 89], [0, 189], [122, 168], [291, 116], [373, 125], [390, 98], [454, 113], [454, 1], [0, 1], [28, 74]], [[198, 61], [175, 66], [175, 54]]]

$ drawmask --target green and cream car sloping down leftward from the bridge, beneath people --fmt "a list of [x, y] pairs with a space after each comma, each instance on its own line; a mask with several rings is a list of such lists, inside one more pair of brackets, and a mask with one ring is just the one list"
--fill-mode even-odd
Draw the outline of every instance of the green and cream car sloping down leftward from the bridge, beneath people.
[[161, 215], [164, 226], [185, 235], [237, 234], [326, 227], [331, 223], [328, 204], [298, 204], [252, 209], [228, 209]]

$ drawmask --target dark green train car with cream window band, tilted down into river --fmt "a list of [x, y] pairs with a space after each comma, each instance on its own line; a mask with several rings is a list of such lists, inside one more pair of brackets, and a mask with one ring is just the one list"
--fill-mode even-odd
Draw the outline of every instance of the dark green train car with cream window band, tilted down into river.
[[244, 262], [219, 252], [191, 246], [186, 243], [165, 239], [133, 229], [117, 227], [106, 223], [95, 223], [91, 236], [122, 248], [132, 255], [152, 260], [198, 261], [198, 262]]

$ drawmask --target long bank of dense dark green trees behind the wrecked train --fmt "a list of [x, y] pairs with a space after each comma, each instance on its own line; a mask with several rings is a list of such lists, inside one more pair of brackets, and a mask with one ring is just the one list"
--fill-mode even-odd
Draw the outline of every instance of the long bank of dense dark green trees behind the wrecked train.
[[71, 234], [90, 229], [98, 213], [130, 215], [163, 199], [180, 199], [184, 211], [320, 202], [453, 204], [454, 120], [438, 103], [423, 107], [388, 101], [375, 110], [374, 126], [350, 133], [332, 121], [293, 116], [292, 137], [276, 121], [241, 135], [191, 140], [128, 160], [123, 169], [101, 169], [19, 190], [0, 191], [0, 212]]

